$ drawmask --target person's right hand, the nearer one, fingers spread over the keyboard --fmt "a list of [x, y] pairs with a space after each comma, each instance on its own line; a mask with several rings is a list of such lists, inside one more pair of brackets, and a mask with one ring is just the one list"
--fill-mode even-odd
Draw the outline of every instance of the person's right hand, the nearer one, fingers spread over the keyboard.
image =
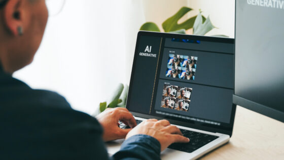
[[168, 120], [144, 120], [126, 135], [126, 139], [139, 134], [156, 138], [161, 144], [161, 151], [166, 149], [172, 143], [189, 142], [189, 139], [183, 136], [180, 129], [175, 125], [170, 125]]

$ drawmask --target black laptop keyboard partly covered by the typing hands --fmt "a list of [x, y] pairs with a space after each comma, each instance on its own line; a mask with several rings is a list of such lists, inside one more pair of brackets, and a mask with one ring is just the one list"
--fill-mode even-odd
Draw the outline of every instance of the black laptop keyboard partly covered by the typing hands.
[[[136, 123], [139, 124], [142, 122], [141, 120], [136, 120]], [[130, 129], [129, 126], [126, 126], [124, 123], [119, 122], [121, 129]], [[214, 141], [218, 138], [218, 136], [207, 135], [199, 132], [189, 131], [180, 129], [183, 135], [190, 139], [189, 143], [173, 143], [168, 148], [175, 149], [179, 151], [184, 151], [191, 153], [198, 148], [208, 144], [211, 141]]]

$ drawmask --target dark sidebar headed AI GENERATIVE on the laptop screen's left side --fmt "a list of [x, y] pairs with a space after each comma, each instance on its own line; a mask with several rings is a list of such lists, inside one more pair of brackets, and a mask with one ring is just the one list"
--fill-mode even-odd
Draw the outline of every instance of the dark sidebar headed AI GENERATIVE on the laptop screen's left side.
[[127, 105], [133, 112], [150, 112], [161, 42], [160, 37], [141, 36], [139, 39], [133, 63], [135, 73], [132, 73], [130, 100]]

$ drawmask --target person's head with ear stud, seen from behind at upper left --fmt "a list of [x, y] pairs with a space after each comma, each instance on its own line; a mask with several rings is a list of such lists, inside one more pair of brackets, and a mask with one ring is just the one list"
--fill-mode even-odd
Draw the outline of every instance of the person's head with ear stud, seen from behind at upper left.
[[28, 65], [46, 27], [45, 0], [0, 0], [0, 62], [13, 73]]

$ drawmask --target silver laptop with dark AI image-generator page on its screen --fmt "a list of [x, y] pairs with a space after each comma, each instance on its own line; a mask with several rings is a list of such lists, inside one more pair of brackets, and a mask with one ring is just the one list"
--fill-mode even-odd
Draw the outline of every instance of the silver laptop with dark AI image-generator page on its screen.
[[[162, 159], [196, 159], [227, 143], [233, 93], [234, 39], [139, 31], [126, 108], [137, 123], [167, 119], [190, 139], [170, 145]], [[123, 141], [108, 142], [108, 152]]]

